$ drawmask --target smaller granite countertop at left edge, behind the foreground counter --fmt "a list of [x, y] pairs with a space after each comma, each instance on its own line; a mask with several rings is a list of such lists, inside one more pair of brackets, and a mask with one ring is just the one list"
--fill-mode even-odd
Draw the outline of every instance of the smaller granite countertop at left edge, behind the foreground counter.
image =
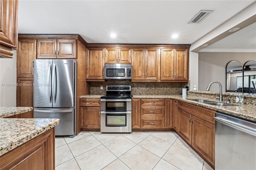
[[32, 111], [33, 107], [0, 107], [0, 118]]

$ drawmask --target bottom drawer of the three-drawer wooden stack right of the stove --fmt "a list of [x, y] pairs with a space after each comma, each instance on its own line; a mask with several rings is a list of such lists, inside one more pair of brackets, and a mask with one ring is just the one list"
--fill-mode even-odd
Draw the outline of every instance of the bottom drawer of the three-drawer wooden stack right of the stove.
[[142, 119], [142, 128], [164, 128], [164, 119]]

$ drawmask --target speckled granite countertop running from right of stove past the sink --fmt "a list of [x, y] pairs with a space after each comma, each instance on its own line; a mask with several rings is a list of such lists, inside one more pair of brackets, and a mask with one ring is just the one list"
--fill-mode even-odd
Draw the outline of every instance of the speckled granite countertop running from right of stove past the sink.
[[188, 100], [188, 99], [205, 99], [205, 100], [213, 101], [212, 99], [189, 96], [189, 95], [186, 97], [186, 99], [183, 99], [182, 95], [133, 95], [132, 98], [133, 99], [176, 99], [179, 101], [184, 101], [186, 103], [205, 107], [215, 111], [228, 113], [230, 115], [238, 116], [244, 119], [249, 119], [251, 121], [256, 121], [256, 106], [250, 105], [250, 104], [236, 105], [236, 103], [234, 103], [234, 106], [214, 106], [214, 105], [208, 105], [206, 103], [200, 103], [200, 102]]

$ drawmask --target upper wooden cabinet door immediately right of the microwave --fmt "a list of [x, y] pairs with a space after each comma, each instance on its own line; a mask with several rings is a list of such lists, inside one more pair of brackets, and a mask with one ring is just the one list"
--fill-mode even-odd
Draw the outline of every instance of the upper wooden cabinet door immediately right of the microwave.
[[132, 49], [132, 80], [144, 80], [144, 48]]

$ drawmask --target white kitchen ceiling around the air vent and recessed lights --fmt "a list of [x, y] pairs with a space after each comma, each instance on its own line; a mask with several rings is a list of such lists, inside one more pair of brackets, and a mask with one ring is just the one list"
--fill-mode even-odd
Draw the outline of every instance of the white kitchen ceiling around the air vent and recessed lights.
[[[255, 0], [19, 0], [18, 33], [80, 34], [87, 43], [192, 44], [253, 2]], [[213, 12], [200, 24], [187, 24], [200, 10]], [[255, 24], [252, 28], [255, 31]], [[114, 39], [110, 38], [112, 32], [117, 34]], [[179, 38], [172, 39], [172, 34], [179, 34]], [[240, 34], [242, 42], [246, 38]], [[218, 43], [212, 47], [217, 48]]]

